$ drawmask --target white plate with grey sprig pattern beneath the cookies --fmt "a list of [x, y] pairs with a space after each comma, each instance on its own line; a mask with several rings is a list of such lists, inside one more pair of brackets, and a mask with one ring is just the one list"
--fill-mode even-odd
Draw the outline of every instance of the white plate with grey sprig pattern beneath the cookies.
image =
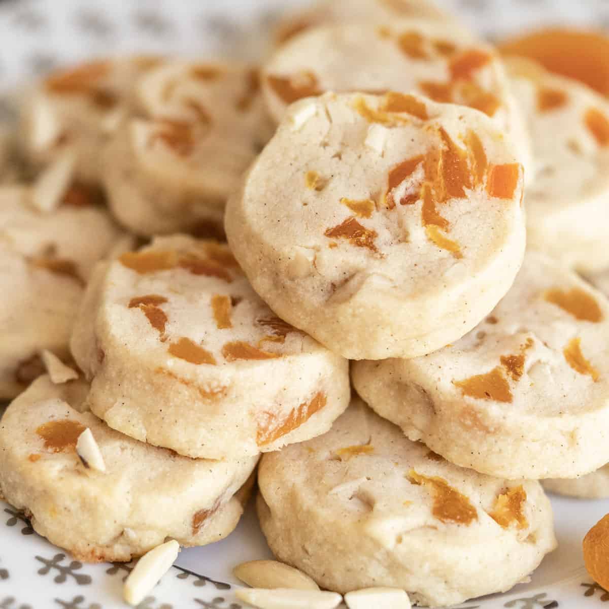
[[[289, 4], [303, 3], [292, 0]], [[609, 2], [588, 0], [438, 0], [490, 37], [536, 24], [609, 26]], [[54, 66], [130, 51], [209, 57], [256, 57], [260, 33], [283, 0], [16, 0], [0, 1], [0, 118], [10, 93]], [[0, 329], [1, 331], [1, 329]], [[0, 337], [1, 340], [1, 337]], [[465, 603], [467, 609], [594, 609], [609, 593], [583, 568], [582, 538], [609, 512], [607, 501], [553, 501], [558, 550], [529, 583], [508, 594]], [[182, 551], [140, 609], [239, 609], [231, 568], [270, 557], [253, 511], [227, 540]], [[0, 609], [113, 609], [129, 565], [82, 565], [32, 532], [0, 501]], [[374, 609], [374, 608], [370, 608]]]

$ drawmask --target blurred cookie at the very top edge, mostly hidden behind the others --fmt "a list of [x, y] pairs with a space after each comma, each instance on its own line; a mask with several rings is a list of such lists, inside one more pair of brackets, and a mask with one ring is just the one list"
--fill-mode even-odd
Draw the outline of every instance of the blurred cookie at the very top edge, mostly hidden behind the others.
[[298, 9], [281, 19], [275, 40], [283, 44], [305, 30], [323, 25], [385, 24], [404, 17], [452, 21], [429, 0], [319, 0], [311, 8]]

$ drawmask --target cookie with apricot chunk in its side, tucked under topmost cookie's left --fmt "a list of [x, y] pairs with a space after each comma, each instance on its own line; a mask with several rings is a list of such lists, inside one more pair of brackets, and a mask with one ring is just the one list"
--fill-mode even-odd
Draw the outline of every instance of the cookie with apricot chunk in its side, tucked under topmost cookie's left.
[[350, 398], [348, 362], [273, 315], [214, 241], [157, 238], [100, 268], [71, 348], [94, 414], [189, 457], [323, 434]]

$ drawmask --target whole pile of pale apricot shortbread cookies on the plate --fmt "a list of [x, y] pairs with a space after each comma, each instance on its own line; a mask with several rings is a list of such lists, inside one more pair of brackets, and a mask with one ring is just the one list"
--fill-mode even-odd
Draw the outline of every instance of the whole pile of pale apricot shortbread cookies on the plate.
[[576, 274], [609, 294], [609, 105], [423, 1], [278, 39], [260, 72], [136, 57], [30, 96], [2, 395], [49, 374], [0, 491], [130, 560], [230, 533], [263, 454], [269, 546], [323, 588], [508, 590], [555, 547], [540, 480], [609, 494], [609, 300]]

